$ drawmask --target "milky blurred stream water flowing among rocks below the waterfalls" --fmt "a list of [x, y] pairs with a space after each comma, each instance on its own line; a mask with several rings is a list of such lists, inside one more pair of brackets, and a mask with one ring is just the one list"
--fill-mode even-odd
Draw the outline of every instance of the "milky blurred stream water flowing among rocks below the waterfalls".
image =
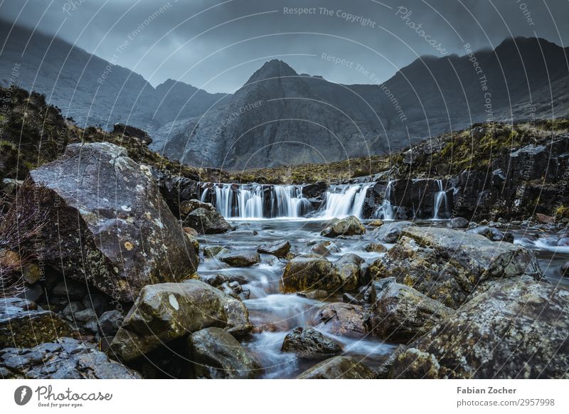
[[[327, 218], [326, 218], [327, 219]], [[308, 253], [309, 245], [317, 241], [330, 240], [322, 237], [320, 231], [326, 223], [324, 218], [273, 218], [253, 220], [230, 220], [234, 230], [219, 235], [203, 235], [198, 238], [201, 248], [208, 245], [228, 246], [231, 250], [255, 252], [259, 245], [277, 240], [289, 240], [292, 251]], [[363, 221], [366, 225], [368, 221]], [[446, 225], [445, 220], [416, 221], [417, 225]], [[554, 240], [543, 238], [542, 230], [510, 228], [514, 233], [514, 243], [524, 245], [536, 252], [543, 272], [555, 285], [569, 287], [569, 280], [560, 277], [560, 267], [569, 260], [569, 248], [555, 247]], [[536, 239], [535, 235], [541, 234]], [[552, 234], [553, 237], [553, 234]], [[328, 260], [338, 260], [341, 255], [355, 253], [366, 262], [373, 262], [385, 253], [368, 253], [363, 249], [366, 243], [376, 242], [371, 235], [362, 235], [336, 240], [340, 252], [332, 253]], [[499, 242], [496, 242], [499, 243]], [[386, 248], [391, 245], [385, 244]], [[201, 260], [200, 275], [225, 275], [237, 280], [244, 289], [250, 290], [250, 297], [243, 302], [248, 307], [250, 319], [255, 329], [245, 339], [252, 354], [265, 369], [265, 378], [294, 378], [299, 373], [314, 365], [317, 361], [299, 359], [294, 354], [281, 351], [285, 335], [294, 327], [316, 327], [319, 329], [317, 314], [319, 309], [329, 302], [342, 302], [341, 294], [324, 299], [307, 299], [298, 294], [283, 294], [280, 280], [285, 268], [285, 260], [272, 255], [261, 255], [261, 262], [252, 267], [230, 267], [216, 258]], [[330, 335], [329, 335], [330, 336]], [[387, 343], [376, 336], [353, 339], [332, 336], [342, 345], [344, 355], [363, 361], [366, 365], [378, 366], [381, 360], [397, 344]]]

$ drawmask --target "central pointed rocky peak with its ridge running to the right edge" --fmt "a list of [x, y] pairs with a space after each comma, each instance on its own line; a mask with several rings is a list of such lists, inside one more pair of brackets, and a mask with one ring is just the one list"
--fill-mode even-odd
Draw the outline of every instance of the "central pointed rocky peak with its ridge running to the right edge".
[[475, 122], [567, 116], [567, 52], [512, 38], [491, 51], [420, 58], [382, 85], [339, 85], [271, 60], [204, 115], [161, 127], [153, 148], [243, 169], [385, 154]]

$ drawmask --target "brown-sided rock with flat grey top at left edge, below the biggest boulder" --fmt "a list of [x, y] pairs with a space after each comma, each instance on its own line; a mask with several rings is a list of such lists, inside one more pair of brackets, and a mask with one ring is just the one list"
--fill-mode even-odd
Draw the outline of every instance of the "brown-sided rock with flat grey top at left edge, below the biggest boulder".
[[26, 299], [1, 299], [0, 349], [9, 346], [30, 348], [70, 334], [70, 327], [58, 314], [39, 310], [35, 303]]

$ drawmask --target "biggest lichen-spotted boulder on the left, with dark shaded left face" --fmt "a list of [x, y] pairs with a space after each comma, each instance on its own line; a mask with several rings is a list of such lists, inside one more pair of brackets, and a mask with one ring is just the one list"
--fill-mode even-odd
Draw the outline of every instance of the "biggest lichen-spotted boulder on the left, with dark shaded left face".
[[198, 257], [149, 167], [122, 147], [70, 144], [59, 159], [31, 171], [18, 197], [27, 211], [15, 214], [45, 221], [26, 252], [115, 300], [132, 302], [145, 285], [196, 272]]

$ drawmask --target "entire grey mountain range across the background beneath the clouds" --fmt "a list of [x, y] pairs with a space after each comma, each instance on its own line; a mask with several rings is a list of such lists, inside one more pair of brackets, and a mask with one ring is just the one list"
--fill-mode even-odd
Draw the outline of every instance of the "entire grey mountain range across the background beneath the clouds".
[[569, 114], [568, 51], [538, 38], [426, 56], [371, 85], [331, 83], [275, 59], [225, 95], [176, 80], [153, 87], [58, 38], [18, 26], [8, 36], [10, 28], [0, 23], [3, 83], [46, 94], [80, 126], [146, 129], [152, 149], [196, 166], [337, 161], [396, 151], [475, 122]]

